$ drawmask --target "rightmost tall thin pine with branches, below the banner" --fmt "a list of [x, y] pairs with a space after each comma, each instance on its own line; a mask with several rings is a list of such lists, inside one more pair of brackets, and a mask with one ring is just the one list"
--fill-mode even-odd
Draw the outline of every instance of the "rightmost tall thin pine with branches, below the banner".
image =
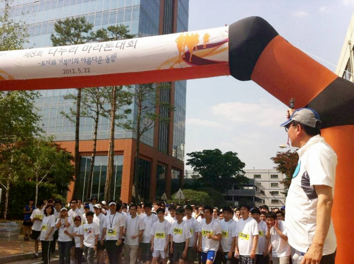
[[[142, 136], [152, 129], [156, 122], [169, 123], [169, 117], [162, 117], [159, 111], [160, 108], [165, 108], [169, 113], [173, 111], [174, 107], [169, 102], [160, 100], [160, 94], [162, 91], [170, 90], [170, 85], [167, 83], [146, 83], [137, 84], [132, 86], [132, 94], [134, 96], [134, 102], [136, 104], [136, 115], [133, 120], [128, 120], [125, 123], [119, 124], [125, 130], [132, 131], [137, 137], [136, 140], [136, 152], [135, 152], [135, 166], [134, 166], [134, 181], [132, 195], [136, 202], [139, 202], [141, 197], [140, 188], [138, 188], [139, 182], [139, 153], [140, 153], [140, 141]], [[169, 116], [169, 115], [168, 115]], [[145, 197], [147, 198], [147, 197]]]

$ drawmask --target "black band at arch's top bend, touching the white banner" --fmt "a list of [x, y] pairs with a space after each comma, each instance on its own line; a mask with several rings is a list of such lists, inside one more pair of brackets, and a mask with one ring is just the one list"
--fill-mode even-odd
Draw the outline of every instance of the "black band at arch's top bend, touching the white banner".
[[253, 68], [268, 43], [278, 32], [261, 17], [247, 17], [229, 26], [230, 73], [250, 80]]

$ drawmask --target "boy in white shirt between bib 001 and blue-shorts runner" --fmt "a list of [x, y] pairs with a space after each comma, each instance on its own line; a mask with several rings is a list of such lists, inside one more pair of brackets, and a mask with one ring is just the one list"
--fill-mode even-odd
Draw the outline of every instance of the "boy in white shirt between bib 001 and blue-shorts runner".
[[183, 221], [185, 221], [191, 231], [191, 238], [189, 239], [188, 251], [187, 251], [187, 261], [189, 264], [193, 264], [196, 258], [196, 249], [197, 249], [197, 241], [198, 235], [200, 232], [199, 223], [195, 217], [193, 217], [193, 207], [191, 205], [186, 205], [185, 207], [186, 216], [183, 217]]

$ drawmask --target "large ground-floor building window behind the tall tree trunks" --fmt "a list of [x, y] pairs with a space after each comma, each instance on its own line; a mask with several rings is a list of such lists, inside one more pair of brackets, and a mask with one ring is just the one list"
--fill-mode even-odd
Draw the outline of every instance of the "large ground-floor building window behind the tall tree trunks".
[[[92, 186], [90, 193], [87, 195], [87, 184], [89, 183], [91, 156], [80, 157], [80, 177], [77, 181], [77, 198], [84, 200], [86, 197], [97, 196], [98, 200], [102, 200], [106, 185], [107, 174], [107, 156], [96, 156], [94, 163], [94, 174], [92, 177]], [[123, 169], [123, 155], [114, 156], [114, 172], [112, 182], [113, 199], [120, 197], [120, 190], [122, 185], [122, 169]]]

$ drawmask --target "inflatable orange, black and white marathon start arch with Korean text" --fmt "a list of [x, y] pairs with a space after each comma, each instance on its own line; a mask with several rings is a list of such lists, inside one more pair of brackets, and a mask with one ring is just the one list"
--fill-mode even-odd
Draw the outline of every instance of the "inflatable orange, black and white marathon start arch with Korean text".
[[[354, 83], [292, 46], [265, 20], [129, 40], [0, 52], [0, 90], [124, 85], [232, 75], [287, 104], [315, 109], [338, 157], [332, 218], [337, 263], [352, 261]], [[349, 233], [348, 233], [349, 231]]]

